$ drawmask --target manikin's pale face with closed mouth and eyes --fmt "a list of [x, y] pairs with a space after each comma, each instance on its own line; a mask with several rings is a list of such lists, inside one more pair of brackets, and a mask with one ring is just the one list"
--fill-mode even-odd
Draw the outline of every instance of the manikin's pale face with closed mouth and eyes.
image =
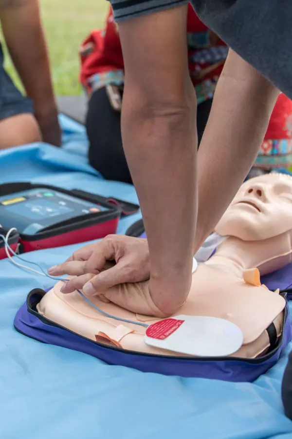
[[244, 182], [215, 231], [244, 241], [292, 230], [292, 177], [266, 174]]

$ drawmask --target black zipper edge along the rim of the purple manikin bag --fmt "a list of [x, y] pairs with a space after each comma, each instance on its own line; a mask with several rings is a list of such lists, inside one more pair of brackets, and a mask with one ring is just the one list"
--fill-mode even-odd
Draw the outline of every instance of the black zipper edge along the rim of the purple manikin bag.
[[[91, 343], [96, 344], [97, 346], [101, 346], [101, 347], [103, 347], [103, 348], [110, 349], [110, 350], [112, 350], [112, 351], [123, 352], [124, 354], [129, 354], [129, 355], [142, 355], [142, 356], [144, 356], [144, 357], [154, 357], [154, 358], [156, 358], [156, 357], [160, 357], [160, 358], [161, 358], [161, 357], [162, 357], [162, 358], [168, 358], [168, 359], [179, 359], [179, 360], [186, 360], [186, 361], [194, 360], [194, 359], [195, 359], [196, 361], [243, 361], [243, 362], [245, 362], [245, 363], [251, 363], [251, 364], [259, 364], [259, 363], [263, 363], [263, 362], [266, 361], [267, 359], [270, 359], [271, 357], [273, 357], [273, 355], [276, 353], [276, 351], [277, 351], [277, 350], [279, 349], [279, 347], [281, 346], [281, 344], [282, 344], [282, 342], [283, 342], [283, 337], [284, 337], [284, 328], [285, 328], [285, 324], [286, 324], [287, 316], [288, 316], [287, 306], [285, 306], [285, 310], [284, 310], [284, 322], [283, 322], [283, 331], [282, 331], [282, 334], [281, 334], [280, 340], [278, 341], [277, 346], [276, 346], [271, 352], [269, 352], [268, 354], [264, 355], [264, 356], [261, 357], [261, 358], [257, 358], [257, 359], [245, 359], [245, 358], [239, 358], [239, 357], [174, 357], [174, 356], [171, 356], [171, 355], [146, 354], [145, 352], [129, 351], [128, 349], [127, 349], [127, 350], [126, 350], [126, 349], [123, 350], [123, 349], [119, 349], [119, 348], [117, 348], [117, 347], [109, 346], [109, 345], [107, 345], [107, 344], [99, 343], [98, 341], [94, 341], [94, 340], [88, 339], [87, 337], [84, 337], [84, 336], [82, 336], [82, 335], [80, 335], [80, 334], [77, 334], [76, 332], [71, 331], [71, 330], [68, 329], [68, 328], [65, 328], [65, 326], [59, 325], [58, 323], [55, 323], [55, 321], [50, 320], [50, 319], [47, 319], [47, 318], [44, 317], [44, 316], [41, 316], [40, 314], [38, 314], [37, 311], [35, 311], [35, 310], [32, 308], [31, 304], [29, 303], [29, 297], [30, 297], [31, 293], [34, 292], [34, 293], [36, 294], [37, 291], [41, 291], [41, 294], [42, 294], [43, 296], [44, 296], [44, 294], [46, 294], [45, 291], [41, 290], [40, 288], [37, 288], [37, 289], [35, 289], [35, 290], [32, 290], [32, 291], [28, 294], [27, 299], [26, 299], [26, 305], [27, 305], [27, 310], [28, 310], [28, 312], [31, 313], [31, 314], [33, 314], [35, 317], [37, 317], [37, 319], [43, 321], [43, 322], [46, 323], [46, 324], [49, 324], [50, 326], [55, 326], [56, 328], [61, 328], [61, 329], [64, 329], [65, 331], [71, 332], [71, 334], [74, 334], [74, 335], [76, 335], [76, 336], [78, 336], [78, 337], [81, 337], [82, 339], [87, 340], [87, 341], [90, 341]], [[21, 331], [19, 331], [19, 332], [21, 332]], [[24, 335], [26, 335], [26, 334], [24, 334]]]

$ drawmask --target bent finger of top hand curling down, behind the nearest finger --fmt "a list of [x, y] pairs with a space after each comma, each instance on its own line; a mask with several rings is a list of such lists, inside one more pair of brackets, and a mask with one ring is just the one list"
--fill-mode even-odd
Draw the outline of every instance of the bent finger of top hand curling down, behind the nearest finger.
[[111, 239], [99, 241], [90, 258], [85, 264], [86, 273], [98, 274], [101, 272], [109, 260], [115, 259], [115, 247]]

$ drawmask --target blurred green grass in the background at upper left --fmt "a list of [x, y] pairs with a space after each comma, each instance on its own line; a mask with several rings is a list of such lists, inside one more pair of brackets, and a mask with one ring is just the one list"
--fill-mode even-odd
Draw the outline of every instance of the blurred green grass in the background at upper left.
[[[106, 0], [40, 0], [56, 95], [81, 94], [78, 48], [92, 29], [103, 27]], [[10, 58], [5, 67], [20, 86]]]

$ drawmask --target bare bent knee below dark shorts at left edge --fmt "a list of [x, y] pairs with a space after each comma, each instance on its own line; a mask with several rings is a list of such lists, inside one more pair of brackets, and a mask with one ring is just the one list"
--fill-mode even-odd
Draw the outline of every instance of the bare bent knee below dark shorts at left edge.
[[41, 141], [37, 120], [23, 113], [0, 120], [0, 149]]

